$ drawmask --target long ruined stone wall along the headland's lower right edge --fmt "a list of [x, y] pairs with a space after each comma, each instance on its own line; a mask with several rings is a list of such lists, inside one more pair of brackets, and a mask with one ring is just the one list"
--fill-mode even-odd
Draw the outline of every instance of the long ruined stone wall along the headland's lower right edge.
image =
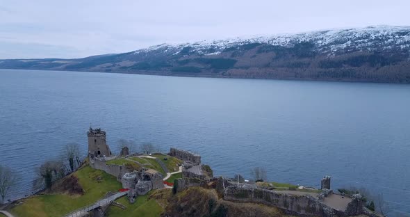
[[[286, 209], [290, 213], [307, 216], [349, 216], [344, 211], [338, 211], [311, 195], [281, 194], [261, 188], [245, 186], [229, 186], [224, 189], [224, 200], [240, 202], [258, 202], [271, 207]], [[357, 214], [351, 213], [355, 216]]]

